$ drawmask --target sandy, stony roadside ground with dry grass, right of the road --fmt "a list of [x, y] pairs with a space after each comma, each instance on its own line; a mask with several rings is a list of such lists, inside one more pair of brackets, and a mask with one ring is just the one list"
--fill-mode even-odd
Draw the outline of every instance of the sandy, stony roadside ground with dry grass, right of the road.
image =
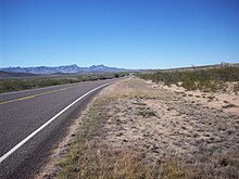
[[138, 78], [105, 88], [101, 103], [92, 104], [103, 105], [95, 116], [102, 122], [87, 135], [87, 144], [79, 141], [87, 148], [77, 157], [78, 178], [239, 178], [238, 106], [214, 107], [203, 95]]

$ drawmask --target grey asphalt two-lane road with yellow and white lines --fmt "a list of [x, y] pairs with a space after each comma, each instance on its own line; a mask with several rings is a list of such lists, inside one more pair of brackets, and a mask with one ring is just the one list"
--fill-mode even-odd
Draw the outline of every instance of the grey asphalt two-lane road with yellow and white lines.
[[32, 178], [66, 133], [67, 126], [112, 81], [0, 94], [0, 178]]

